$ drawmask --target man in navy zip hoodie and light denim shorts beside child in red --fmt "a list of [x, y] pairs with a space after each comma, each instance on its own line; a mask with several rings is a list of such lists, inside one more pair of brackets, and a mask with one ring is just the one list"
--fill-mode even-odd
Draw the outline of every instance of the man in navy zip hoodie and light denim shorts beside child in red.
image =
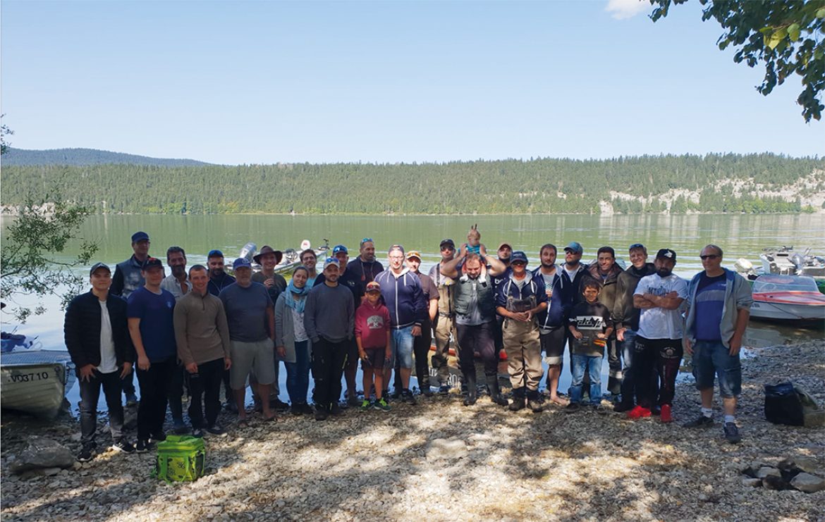
[[415, 404], [415, 397], [409, 390], [410, 374], [413, 373], [413, 337], [421, 335], [421, 327], [427, 317], [427, 303], [424, 302], [418, 276], [404, 266], [404, 247], [389, 247], [388, 256], [389, 269], [375, 276], [375, 281], [381, 285], [381, 296], [389, 309], [393, 330], [393, 355], [389, 364], [384, 366], [384, 383], [389, 383], [395, 360], [400, 359], [401, 398]]

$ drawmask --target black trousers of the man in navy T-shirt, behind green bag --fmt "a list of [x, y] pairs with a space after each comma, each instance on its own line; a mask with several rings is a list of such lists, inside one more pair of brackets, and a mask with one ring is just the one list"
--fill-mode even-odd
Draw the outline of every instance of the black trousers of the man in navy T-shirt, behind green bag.
[[178, 369], [177, 356], [152, 361], [149, 369], [138, 369], [140, 405], [138, 406], [138, 439], [147, 440], [151, 435], [163, 433], [166, 407], [173, 372]]

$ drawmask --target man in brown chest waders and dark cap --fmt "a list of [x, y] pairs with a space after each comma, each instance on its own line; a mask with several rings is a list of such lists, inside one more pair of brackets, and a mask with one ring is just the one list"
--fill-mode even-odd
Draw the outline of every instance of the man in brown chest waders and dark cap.
[[527, 402], [532, 411], [539, 412], [539, 383], [544, 371], [541, 369], [541, 343], [535, 314], [547, 309], [547, 294], [544, 280], [534, 278], [526, 270], [524, 252], [512, 253], [510, 268], [512, 271], [507, 280], [498, 285], [496, 296], [497, 312], [504, 317], [502, 341], [513, 387], [510, 411], [521, 410]]

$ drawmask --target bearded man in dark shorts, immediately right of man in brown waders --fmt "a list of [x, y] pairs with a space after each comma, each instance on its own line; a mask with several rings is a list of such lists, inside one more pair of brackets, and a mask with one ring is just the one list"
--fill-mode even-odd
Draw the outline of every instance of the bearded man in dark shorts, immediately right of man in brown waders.
[[559, 406], [567, 406], [567, 401], [559, 397], [559, 376], [562, 373], [564, 345], [567, 343], [567, 310], [563, 303], [561, 269], [556, 266], [556, 247], [547, 243], [539, 252], [541, 266], [533, 270], [534, 277], [541, 276], [547, 308], [536, 316], [539, 323], [539, 341], [547, 362], [547, 391], [550, 401]]

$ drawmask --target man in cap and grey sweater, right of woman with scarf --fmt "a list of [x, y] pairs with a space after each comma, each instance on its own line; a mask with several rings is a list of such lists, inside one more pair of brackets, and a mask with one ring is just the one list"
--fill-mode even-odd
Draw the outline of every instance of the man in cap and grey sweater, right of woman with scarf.
[[315, 420], [342, 414], [341, 376], [347, 363], [347, 347], [355, 329], [355, 300], [347, 287], [338, 285], [340, 261], [328, 257], [323, 263], [323, 285], [307, 296], [304, 327], [312, 340], [312, 373], [315, 379]]

